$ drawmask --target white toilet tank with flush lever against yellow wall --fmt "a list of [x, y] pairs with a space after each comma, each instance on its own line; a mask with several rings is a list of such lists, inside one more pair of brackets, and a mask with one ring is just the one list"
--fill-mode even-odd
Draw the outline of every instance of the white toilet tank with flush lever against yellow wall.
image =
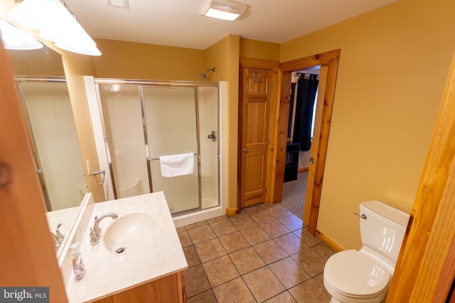
[[364, 248], [395, 269], [410, 215], [379, 201], [360, 204], [360, 216], [363, 214], [366, 219], [360, 218], [360, 235]]

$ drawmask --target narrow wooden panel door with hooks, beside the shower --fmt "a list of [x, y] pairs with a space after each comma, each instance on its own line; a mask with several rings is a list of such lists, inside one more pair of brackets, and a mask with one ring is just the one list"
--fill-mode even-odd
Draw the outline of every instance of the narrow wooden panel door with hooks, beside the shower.
[[265, 198], [271, 75], [269, 70], [243, 69], [240, 208], [262, 203]]

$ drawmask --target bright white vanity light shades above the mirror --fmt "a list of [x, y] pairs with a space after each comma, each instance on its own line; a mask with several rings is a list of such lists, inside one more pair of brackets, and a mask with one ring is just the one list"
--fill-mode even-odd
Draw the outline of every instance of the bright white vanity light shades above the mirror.
[[8, 13], [12, 21], [38, 31], [63, 50], [82, 55], [101, 55], [95, 41], [60, 0], [23, 0]]

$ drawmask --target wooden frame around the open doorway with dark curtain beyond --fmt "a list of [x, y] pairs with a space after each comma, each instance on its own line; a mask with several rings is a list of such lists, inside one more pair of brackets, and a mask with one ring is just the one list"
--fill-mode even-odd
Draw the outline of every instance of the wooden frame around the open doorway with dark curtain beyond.
[[[277, 119], [276, 157], [274, 169], [273, 202], [281, 202], [283, 192], [284, 165], [286, 158], [287, 128], [289, 123], [289, 104], [291, 73], [297, 70], [306, 70], [321, 66], [319, 77], [319, 97], [316, 105], [316, 119], [314, 127], [314, 141], [311, 148], [311, 158], [308, 184], [305, 198], [304, 222], [309, 225], [308, 231], [316, 233], [316, 223], [321, 201], [323, 172], [326, 164], [328, 133], [331, 126], [333, 99], [335, 95], [336, 75], [340, 50], [332, 50], [279, 64], [280, 98]], [[323, 102], [322, 102], [323, 101]]]

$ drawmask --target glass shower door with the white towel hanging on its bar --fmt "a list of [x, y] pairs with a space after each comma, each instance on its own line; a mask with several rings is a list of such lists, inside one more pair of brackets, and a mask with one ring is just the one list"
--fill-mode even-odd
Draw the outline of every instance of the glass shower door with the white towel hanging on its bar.
[[[143, 87], [152, 192], [163, 191], [171, 214], [200, 208], [196, 88]], [[193, 154], [192, 174], [163, 177], [161, 156]]]

